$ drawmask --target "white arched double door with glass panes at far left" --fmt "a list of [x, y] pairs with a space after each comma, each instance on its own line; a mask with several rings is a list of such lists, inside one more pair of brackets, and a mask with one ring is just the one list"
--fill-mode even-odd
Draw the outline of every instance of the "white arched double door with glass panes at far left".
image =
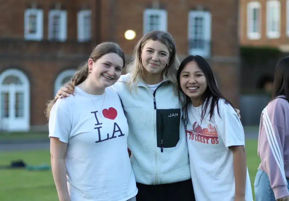
[[19, 70], [0, 74], [0, 130], [28, 131], [30, 128], [29, 82]]

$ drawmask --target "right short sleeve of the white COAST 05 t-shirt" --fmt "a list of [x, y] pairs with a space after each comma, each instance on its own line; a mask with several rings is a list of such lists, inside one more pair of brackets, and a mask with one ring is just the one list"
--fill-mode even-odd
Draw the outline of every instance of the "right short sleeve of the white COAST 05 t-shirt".
[[244, 130], [237, 113], [225, 112], [216, 127], [226, 147], [245, 145]]

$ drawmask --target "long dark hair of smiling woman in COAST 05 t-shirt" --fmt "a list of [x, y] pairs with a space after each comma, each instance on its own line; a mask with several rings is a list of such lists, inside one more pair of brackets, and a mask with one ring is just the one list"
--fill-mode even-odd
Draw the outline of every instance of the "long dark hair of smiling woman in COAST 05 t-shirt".
[[[180, 67], [178, 68], [178, 73], [177, 73], [178, 89], [179, 89], [178, 97], [179, 97], [179, 101], [184, 105], [183, 110], [185, 110], [185, 113], [186, 113], [186, 118], [184, 118], [184, 120], [187, 122], [187, 119], [188, 119], [187, 105], [191, 103], [192, 101], [188, 96], [185, 95], [185, 93], [183, 92], [181, 88], [180, 75], [181, 75], [181, 72], [183, 71], [183, 68], [187, 65], [187, 63], [192, 62], [192, 61], [195, 61], [197, 63], [197, 65], [199, 66], [201, 71], [204, 73], [205, 78], [207, 80], [207, 88], [201, 98], [201, 103], [205, 103], [205, 105], [204, 104], [202, 105], [201, 121], [205, 118], [205, 114], [208, 108], [210, 109], [210, 120], [211, 120], [213, 113], [214, 113], [215, 105], [217, 106], [217, 112], [220, 116], [219, 99], [224, 99], [225, 103], [230, 104], [232, 107], [233, 105], [219, 91], [216, 80], [214, 78], [213, 71], [209, 63], [203, 57], [199, 55], [196, 55], [196, 56], [190, 55], [186, 57], [183, 60], [183, 62], [180, 64]], [[212, 100], [211, 102], [209, 101], [210, 98]], [[209, 103], [210, 103], [210, 106], [209, 106]]]

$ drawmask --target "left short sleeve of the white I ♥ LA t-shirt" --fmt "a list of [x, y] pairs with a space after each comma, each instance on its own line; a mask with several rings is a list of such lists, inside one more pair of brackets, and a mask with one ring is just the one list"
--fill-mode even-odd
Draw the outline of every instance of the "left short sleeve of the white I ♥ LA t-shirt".
[[49, 137], [56, 137], [61, 142], [68, 143], [71, 131], [71, 118], [64, 112], [64, 109], [61, 109], [58, 101], [56, 101], [50, 111], [48, 127]]

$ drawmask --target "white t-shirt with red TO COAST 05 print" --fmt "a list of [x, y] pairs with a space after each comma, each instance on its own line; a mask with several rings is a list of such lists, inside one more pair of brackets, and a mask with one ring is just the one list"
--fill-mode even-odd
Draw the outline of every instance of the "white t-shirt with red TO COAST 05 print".
[[[237, 113], [224, 100], [215, 106], [210, 121], [210, 104], [201, 122], [202, 106], [190, 104], [185, 126], [192, 183], [196, 201], [233, 201], [235, 197], [234, 145], [245, 145], [244, 130]], [[185, 124], [186, 125], [186, 124]], [[253, 201], [247, 169], [246, 201]]]

